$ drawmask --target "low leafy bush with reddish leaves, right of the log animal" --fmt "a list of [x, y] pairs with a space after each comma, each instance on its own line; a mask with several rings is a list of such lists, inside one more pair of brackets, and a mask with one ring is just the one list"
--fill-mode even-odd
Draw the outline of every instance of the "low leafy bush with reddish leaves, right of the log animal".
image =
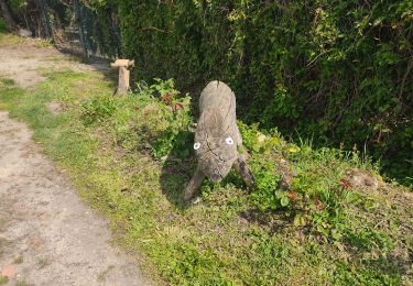
[[[286, 143], [276, 130], [273, 135], [264, 135], [257, 124], [239, 125], [246, 146], [252, 153], [249, 161], [256, 177], [250, 195], [252, 204], [261, 211], [283, 209], [296, 227], [312, 227], [318, 233], [340, 239], [338, 228], [345, 219], [343, 204], [346, 202], [346, 189], [340, 183], [344, 152], [312, 150], [304, 143], [298, 147]], [[278, 168], [284, 157], [292, 162], [290, 172], [295, 173], [287, 190], [281, 189], [280, 183], [289, 170]], [[328, 165], [340, 168], [323, 173]]]

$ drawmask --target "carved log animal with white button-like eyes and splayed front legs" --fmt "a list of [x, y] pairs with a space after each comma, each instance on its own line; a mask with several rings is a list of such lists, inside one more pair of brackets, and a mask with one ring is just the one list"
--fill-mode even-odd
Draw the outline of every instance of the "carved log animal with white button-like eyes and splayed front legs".
[[220, 182], [231, 167], [238, 170], [247, 186], [252, 186], [253, 176], [244, 156], [238, 153], [242, 148], [242, 139], [237, 127], [232, 90], [221, 81], [209, 82], [200, 94], [199, 113], [194, 143], [198, 166], [184, 199], [192, 199], [205, 177]]

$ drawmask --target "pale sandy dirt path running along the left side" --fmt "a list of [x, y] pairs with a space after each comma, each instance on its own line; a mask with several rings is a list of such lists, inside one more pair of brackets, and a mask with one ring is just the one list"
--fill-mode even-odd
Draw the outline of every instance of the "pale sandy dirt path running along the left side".
[[[42, 51], [0, 47], [0, 75], [33, 87], [44, 80], [37, 67], [63, 58]], [[0, 111], [0, 274], [9, 285], [148, 284], [137, 261], [110, 240], [108, 223], [79, 200], [26, 125]]]

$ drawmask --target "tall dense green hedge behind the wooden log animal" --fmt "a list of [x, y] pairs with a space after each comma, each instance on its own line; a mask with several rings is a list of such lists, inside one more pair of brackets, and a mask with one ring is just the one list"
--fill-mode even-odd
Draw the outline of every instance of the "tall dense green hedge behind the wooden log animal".
[[140, 79], [174, 77], [184, 90], [227, 81], [247, 122], [367, 145], [412, 176], [412, 1], [116, 4], [122, 52]]

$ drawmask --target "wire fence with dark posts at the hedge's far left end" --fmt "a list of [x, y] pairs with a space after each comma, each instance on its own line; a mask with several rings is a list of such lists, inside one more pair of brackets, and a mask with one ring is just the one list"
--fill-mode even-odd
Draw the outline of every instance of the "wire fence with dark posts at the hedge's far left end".
[[120, 56], [117, 14], [94, 11], [79, 0], [40, 0], [46, 35], [55, 46], [85, 58]]

